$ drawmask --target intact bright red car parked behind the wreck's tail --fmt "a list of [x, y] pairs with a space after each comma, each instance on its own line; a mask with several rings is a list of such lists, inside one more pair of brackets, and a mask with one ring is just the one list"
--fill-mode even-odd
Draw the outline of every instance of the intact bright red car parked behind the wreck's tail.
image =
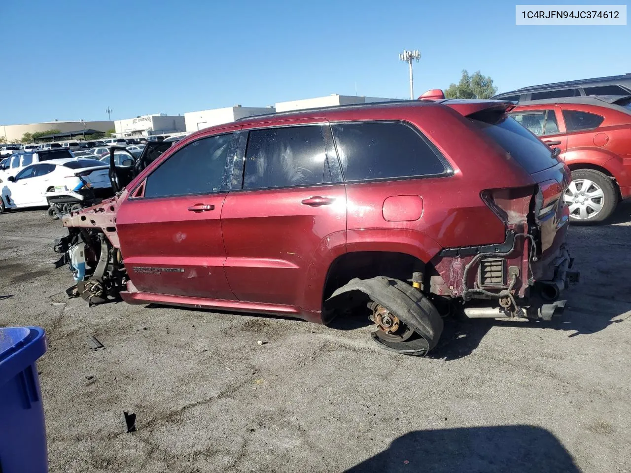
[[631, 96], [521, 102], [509, 115], [560, 148], [559, 158], [572, 170], [564, 196], [570, 220], [603, 221], [631, 197]]

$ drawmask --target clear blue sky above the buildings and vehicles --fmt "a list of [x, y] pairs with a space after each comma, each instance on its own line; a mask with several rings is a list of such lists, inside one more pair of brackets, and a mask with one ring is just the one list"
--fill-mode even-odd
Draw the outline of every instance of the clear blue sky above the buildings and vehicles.
[[407, 98], [404, 48], [422, 53], [416, 95], [462, 69], [499, 91], [631, 73], [631, 26], [515, 26], [505, 0], [1, 3], [0, 124], [264, 107], [356, 84]]

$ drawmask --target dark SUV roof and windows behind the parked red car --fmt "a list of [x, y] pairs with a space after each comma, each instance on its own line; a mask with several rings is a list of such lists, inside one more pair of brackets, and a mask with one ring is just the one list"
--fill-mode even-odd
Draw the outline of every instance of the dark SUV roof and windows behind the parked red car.
[[631, 74], [533, 85], [500, 93], [492, 98], [495, 100], [510, 100], [511, 102], [526, 102], [526, 100], [545, 100], [546, 98], [585, 95], [631, 95]]

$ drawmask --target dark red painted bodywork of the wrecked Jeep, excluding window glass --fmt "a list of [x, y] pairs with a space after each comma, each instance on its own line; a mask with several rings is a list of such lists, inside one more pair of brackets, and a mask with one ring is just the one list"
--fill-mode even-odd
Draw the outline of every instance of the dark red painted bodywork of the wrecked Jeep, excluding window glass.
[[[129, 192], [73, 213], [64, 225], [102, 228], [121, 250], [130, 277], [121, 295], [130, 303], [279, 313], [321, 321], [329, 271], [340, 257], [353, 252], [411, 255], [436, 269], [435, 276], [442, 281], [435, 279], [437, 294], [456, 297], [466, 290], [463, 280], [473, 288], [478, 274], [472, 270], [464, 277], [464, 268], [476, 257], [460, 255], [457, 248], [501, 245], [509, 234], [526, 235], [516, 239], [507, 256], [508, 266], [519, 268], [516, 295], [524, 296], [535, 250], [529, 249], [526, 221], [533, 213], [533, 196], [540, 189], [541, 206], [556, 206], [541, 218], [541, 258], [533, 264], [534, 277], [551, 279], [555, 267], [544, 264], [558, 256], [565, 239], [567, 207], [559, 196], [569, 176], [565, 166], [554, 161], [531, 175], [465, 116], [485, 110], [503, 114], [509, 105], [402, 102], [279, 114], [273, 119], [254, 117], [211, 127], [165, 151], [134, 178], [127, 186]], [[329, 124], [379, 121], [403, 122], [422, 133], [442, 155], [447, 171], [440, 177], [362, 182], [344, 182], [341, 173], [332, 172], [332, 182], [276, 189], [241, 189], [243, 181], [238, 177], [230, 189], [211, 195], [141, 197], [141, 186], [154, 170], [204, 137], [239, 134], [234, 138], [238, 142], [234, 169], [230, 168], [234, 177], [235, 169], [244, 166], [245, 158], [238, 152], [245, 148], [249, 131], [320, 124], [330, 135]], [[331, 166], [339, 168], [339, 150], [331, 136], [329, 140], [327, 159], [333, 156], [336, 164], [331, 161]], [[498, 218], [497, 210], [481, 197], [486, 190], [498, 189], [519, 189], [523, 194], [517, 199], [519, 212], [517, 207], [509, 209], [507, 221]], [[516, 205], [509, 194], [506, 202]], [[195, 206], [208, 209], [199, 213], [189, 209]], [[449, 248], [456, 248], [455, 256], [444, 254]]]

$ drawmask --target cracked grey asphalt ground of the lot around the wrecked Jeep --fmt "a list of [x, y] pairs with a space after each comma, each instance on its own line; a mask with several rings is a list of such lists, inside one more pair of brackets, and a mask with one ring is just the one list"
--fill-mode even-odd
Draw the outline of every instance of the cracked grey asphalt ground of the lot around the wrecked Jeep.
[[355, 319], [88, 308], [52, 267], [64, 233], [42, 210], [0, 216], [0, 323], [50, 342], [51, 472], [631, 471], [631, 205], [570, 228], [562, 318], [449, 320], [432, 358], [379, 349]]

